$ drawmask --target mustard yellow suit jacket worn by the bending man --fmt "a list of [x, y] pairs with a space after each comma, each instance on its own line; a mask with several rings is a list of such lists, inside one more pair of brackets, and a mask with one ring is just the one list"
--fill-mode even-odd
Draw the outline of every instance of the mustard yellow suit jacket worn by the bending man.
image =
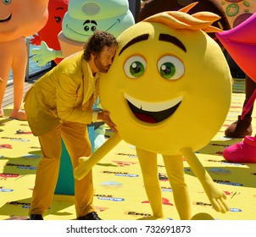
[[37, 80], [24, 99], [32, 133], [43, 135], [63, 121], [91, 124], [99, 75], [77, 52]]

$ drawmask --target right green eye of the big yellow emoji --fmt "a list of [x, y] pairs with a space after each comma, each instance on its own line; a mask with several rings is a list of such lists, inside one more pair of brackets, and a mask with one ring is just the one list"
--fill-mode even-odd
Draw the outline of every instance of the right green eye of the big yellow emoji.
[[184, 64], [174, 56], [164, 56], [158, 62], [159, 74], [167, 80], [177, 80], [185, 72]]

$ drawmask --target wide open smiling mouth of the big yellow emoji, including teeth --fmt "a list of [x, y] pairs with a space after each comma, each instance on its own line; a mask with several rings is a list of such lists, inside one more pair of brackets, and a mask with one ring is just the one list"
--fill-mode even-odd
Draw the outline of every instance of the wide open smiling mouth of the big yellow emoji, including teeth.
[[142, 102], [125, 94], [125, 98], [136, 118], [147, 123], [159, 123], [175, 113], [183, 96], [166, 102]]

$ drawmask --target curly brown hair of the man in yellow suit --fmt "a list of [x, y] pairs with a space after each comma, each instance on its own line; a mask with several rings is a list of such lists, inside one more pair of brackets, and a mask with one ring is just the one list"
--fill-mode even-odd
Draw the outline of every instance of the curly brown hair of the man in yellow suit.
[[86, 61], [91, 59], [91, 54], [98, 55], [103, 47], [117, 47], [118, 42], [109, 32], [96, 30], [84, 45], [84, 58]]

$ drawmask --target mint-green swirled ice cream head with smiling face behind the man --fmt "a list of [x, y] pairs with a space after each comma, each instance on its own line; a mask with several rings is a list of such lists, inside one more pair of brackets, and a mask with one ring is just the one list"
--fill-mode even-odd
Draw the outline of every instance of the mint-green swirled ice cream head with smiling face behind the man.
[[64, 15], [64, 36], [73, 41], [86, 41], [95, 30], [104, 30], [119, 36], [134, 25], [127, 0], [70, 0]]

